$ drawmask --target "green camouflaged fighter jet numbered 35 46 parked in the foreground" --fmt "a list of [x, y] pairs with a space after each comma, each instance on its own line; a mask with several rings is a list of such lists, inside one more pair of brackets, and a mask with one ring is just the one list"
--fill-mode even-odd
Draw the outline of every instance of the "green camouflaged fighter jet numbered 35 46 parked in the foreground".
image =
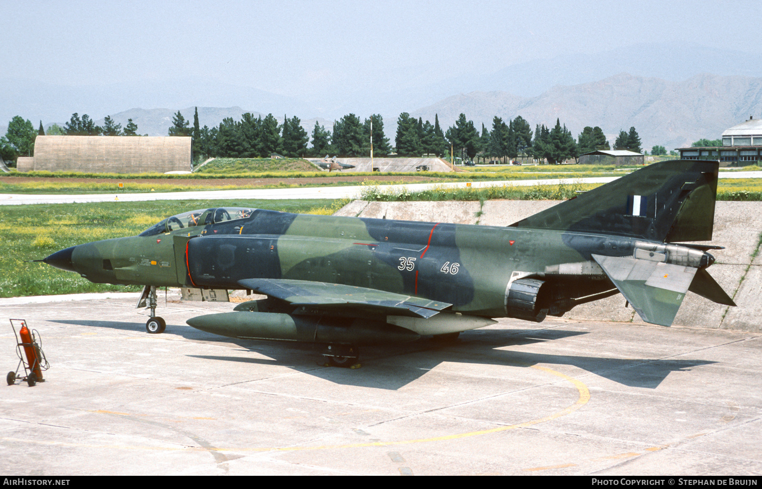
[[717, 161], [663, 161], [507, 227], [310, 216], [245, 208], [171, 216], [138, 236], [43, 261], [94, 283], [248, 289], [267, 299], [187, 321], [227, 337], [322, 344], [331, 364], [358, 347], [455, 337], [494, 318], [543, 321], [621, 293], [669, 326], [688, 291], [735, 305], [706, 269]]

